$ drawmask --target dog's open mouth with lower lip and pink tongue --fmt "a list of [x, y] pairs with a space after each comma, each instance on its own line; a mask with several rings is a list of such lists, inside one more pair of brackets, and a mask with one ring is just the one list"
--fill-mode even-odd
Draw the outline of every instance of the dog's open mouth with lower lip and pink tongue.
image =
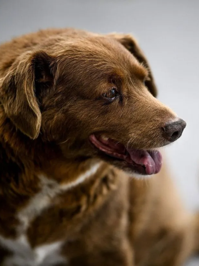
[[100, 151], [125, 162], [126, 166], [130, 167], [133, 172], [142, 175], [152, 175], [160, 172], [162, 155], [157, 150], [127, 148], [123, 144], [103, 135], [97, 137], [92, 134], [89, 139]]

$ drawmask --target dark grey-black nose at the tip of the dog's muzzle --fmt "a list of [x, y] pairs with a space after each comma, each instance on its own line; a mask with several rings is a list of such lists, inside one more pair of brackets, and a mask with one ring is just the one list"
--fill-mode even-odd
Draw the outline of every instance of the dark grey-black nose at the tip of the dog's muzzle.
[[173, 142], [181, 137], [185, 127], [186, 127], [186, 122], [180, 118], [178, 121], [168, 123], [163, 128], [164, 137], [170, 142]]

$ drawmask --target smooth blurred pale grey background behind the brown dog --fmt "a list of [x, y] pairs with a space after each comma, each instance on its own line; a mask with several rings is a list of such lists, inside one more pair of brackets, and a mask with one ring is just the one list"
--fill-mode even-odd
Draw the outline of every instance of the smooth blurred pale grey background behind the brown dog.
[[[185, 206], [199, 209], [199, 1], [0, 0], [0, 25], [0, 42], [47, 27], [134, 34], [158, 98], [187, 122], [182, 138], [165, 150]], [[199, 259], [186, 264], [198, 265]]]

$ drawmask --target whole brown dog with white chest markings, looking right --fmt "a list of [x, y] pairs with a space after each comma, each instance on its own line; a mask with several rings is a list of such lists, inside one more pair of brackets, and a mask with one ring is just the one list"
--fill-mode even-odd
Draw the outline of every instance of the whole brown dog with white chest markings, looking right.
[[0, 46], [0, 265], [178, 266], [197, 251], [199, 219], [156, 149], [186, 123], [154, 96], [129, 35]]

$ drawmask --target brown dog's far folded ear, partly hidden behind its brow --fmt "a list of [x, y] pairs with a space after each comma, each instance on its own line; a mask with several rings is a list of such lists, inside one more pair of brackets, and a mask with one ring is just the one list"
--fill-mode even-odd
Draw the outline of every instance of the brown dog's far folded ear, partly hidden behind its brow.
[[130, 34], [118, 34], [118, 33], [112, 33], [109, 34], [109, 36], [115, 38], [117, 41], [119, 41], [128, 51], [130, 51], [133, 56], [136, 57], [136, 59], [143, 64], [149, 71], [149, 78], [145, 81], [146, 86], [150, 90], [151, 94], [153, 96], [157, 96], [157, 89], [154, 82], [154, 78], [149, 66], [149, 63], [142, 52], [141, 48], [139, 47], [136, 39], [131, 36]]

